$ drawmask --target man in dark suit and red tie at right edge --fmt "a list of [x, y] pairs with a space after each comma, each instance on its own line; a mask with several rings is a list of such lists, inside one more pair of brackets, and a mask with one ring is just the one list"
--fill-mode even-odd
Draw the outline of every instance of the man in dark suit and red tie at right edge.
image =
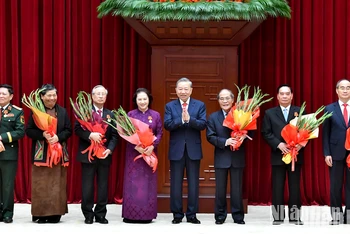
[[[330, 225], [338, 225], [344, 218], [344, 223], [350, 223], [350, 172], [347, 168], [346, 157], [350, 153], [345, 149], [346, 131], [349, 128], [350, 113], [350, 81], [342, 79], [336, 85], [338, 101], [329, 104], [325, 112], [333, 115], [323, 123], [323, 154], [329, 166], [330, 176], [330, 205], [332, 221]], [[345, 170], [345, 209], [342, 208], [342, 188]]]

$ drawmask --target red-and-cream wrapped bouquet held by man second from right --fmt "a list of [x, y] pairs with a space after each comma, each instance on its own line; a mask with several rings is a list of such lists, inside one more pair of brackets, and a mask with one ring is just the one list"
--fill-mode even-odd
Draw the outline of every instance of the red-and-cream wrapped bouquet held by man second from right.
[[308, 140], [317, 138], [319, 133], [318, 127], [333, 114], [327, 112], [317, 119], [316, 116], [321, 113], [325, 107], [321, 106], [313, 114], [303, 115], [305, 106], [304, 102], [300, 107], [299, 116], [292, 119], [281, 131], [281, 136], [290, 149], [289, 153], [283, 155], [282, 161], [286, 164], [292, 162], [292, 171], [294, 171], [295, 162], [298, 160], [297, 145], [305, 147]]

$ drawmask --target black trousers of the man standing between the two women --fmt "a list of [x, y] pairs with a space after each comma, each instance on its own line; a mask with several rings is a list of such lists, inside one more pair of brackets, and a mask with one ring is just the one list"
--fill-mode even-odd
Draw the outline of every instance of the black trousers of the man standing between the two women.
[[[105, 217], [108, 202], [108, 175], [110, 165], [82, 163], [82, 200], [81, 210], [85, 218]], [[94, 207], [95, 176], [97, 184], [97, 203]]]

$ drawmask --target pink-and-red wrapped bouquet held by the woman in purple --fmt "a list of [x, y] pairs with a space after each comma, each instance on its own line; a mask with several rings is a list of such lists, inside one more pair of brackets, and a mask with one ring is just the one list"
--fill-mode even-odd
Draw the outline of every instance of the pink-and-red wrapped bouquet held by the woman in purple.
[[[153, 145], [153, 142], [157, 137], [153, 134], [152, 129], [149, 128], [148, 124], [129, 117], [122, 107], [118, 110], [113, 110], [112, 112], [114, 114], [114, 118], [112, 118], [114, 124], [108, 124], [114, 127], [122, 138], [133, 145], [140, 145], [142, 148], [147, 148], [148, 146]], [[140, 154], [134, 158], [134, 161], [139, 158], [143, 158], [143, 160], [152, 168], [153, 172], [157, 170], [158, 158], [154, 152], [150, 155]]]

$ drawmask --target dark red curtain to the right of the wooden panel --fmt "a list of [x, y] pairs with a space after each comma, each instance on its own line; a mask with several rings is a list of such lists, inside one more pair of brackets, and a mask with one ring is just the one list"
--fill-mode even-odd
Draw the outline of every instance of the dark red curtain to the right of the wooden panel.
[[[291, 19], [269, 18], [244, 41], [240, 50], [240, 84], [260, 86], [274, 96], [262, 106], [278, 105], [277, 87], [294, 89], [294, 105], [306, 101], [308, 113], [338, 100], [335, 84], [350, 78], [350, 2], [292, 0]], [[246, 194], [251, 204], [271, 199], [270, 148], [260, 134], [250, 142]], [[322, 131], [305, 148], [301, 193], [304, 205], [329, 204], [329, 174], [322, 152]], [[286, 196], [288, 191], [286, 189]]]

